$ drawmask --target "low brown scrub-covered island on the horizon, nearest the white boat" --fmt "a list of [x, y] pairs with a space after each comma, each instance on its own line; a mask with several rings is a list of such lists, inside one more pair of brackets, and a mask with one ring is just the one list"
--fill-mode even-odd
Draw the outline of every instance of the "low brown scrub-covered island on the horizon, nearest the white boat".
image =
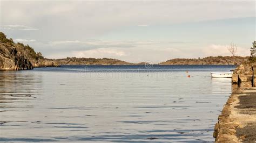
[[198, 59], [172, 59], [159, 65], [240, 65], [247, 62], [249, 57], [235, 56], [208, 56]]

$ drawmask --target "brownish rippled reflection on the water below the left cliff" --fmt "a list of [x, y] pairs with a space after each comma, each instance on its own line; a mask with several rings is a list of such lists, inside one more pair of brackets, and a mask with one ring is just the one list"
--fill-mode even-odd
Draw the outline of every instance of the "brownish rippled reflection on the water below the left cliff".
[[0, 112], [6, 111], [6, 108], [32, 107], [22, 103], [28, 103], [30, 99], [36, 98], [33, 95], [38, 95], [40, 90], [35, 83], [40, 83], [40, 80], [40, 76], [35, 78], [35, 75], [32, 74], [24, 75], [14, 71], [2, 72], [0, 74]]

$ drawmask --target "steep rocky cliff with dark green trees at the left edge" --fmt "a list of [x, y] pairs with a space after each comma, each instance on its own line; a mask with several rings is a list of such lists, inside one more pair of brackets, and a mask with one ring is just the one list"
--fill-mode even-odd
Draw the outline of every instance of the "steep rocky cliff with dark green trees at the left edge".
[[58, 66], [56, 61], [45, 59], [29, 45], [15, 43], [0, 32], [0, 70], [24, 70], [33, 67]]

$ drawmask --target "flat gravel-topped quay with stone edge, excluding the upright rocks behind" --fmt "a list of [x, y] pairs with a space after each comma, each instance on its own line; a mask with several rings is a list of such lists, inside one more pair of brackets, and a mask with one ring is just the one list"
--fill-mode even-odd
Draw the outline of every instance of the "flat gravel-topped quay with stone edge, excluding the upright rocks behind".
[[256, 141], [256, 88], [233, 89], [215, 125], [213, 137], [216, 142]]

